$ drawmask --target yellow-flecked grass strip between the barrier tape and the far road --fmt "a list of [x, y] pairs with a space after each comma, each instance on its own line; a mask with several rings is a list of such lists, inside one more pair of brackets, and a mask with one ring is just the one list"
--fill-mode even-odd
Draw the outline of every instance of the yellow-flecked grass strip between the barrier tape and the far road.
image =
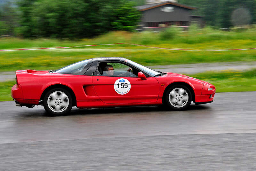
[[101, 48], [0, 52], [0, 71], [19, 69], [55, 70], [94, 57], [124, 57], [146, 66], [256, 60], [256, 50], [170, 51], [146, 49], [132, 45], [113, 45]]

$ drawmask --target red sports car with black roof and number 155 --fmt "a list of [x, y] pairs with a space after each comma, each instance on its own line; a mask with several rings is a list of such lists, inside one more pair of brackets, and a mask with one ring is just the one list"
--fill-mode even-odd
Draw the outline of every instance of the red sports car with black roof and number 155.
[[16, 71], [16, 106], [44, 105], [51, 115], [77, 108], [161, 105], [184, 110], [211, 103], [215, 87], [186, 75], [154, 71], [125, 58], [92, 58], [55, 71]]

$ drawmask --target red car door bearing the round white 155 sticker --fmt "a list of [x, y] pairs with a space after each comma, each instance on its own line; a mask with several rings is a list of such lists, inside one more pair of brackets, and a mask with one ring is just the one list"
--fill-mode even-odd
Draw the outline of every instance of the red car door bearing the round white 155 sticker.
[[93, 86], [100, 100], [108, 104], [157, 101], [159, 83], [154, 77], [142, 80], [134, 74], [122, 75], [120, 73], [127, 71], [130, 66], [123, 63], [115, 64], [119, 66], [119, 68], [115, 69], [117, 74], [104, 75], [103, 72], [92, 76]]

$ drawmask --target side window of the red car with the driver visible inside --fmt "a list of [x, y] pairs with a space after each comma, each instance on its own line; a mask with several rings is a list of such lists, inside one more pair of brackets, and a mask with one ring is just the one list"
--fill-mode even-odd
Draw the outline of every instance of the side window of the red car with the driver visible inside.
[[101, 62], [97, 70], [101, 76], [138, 77], [137, 69], [119, 62]]

